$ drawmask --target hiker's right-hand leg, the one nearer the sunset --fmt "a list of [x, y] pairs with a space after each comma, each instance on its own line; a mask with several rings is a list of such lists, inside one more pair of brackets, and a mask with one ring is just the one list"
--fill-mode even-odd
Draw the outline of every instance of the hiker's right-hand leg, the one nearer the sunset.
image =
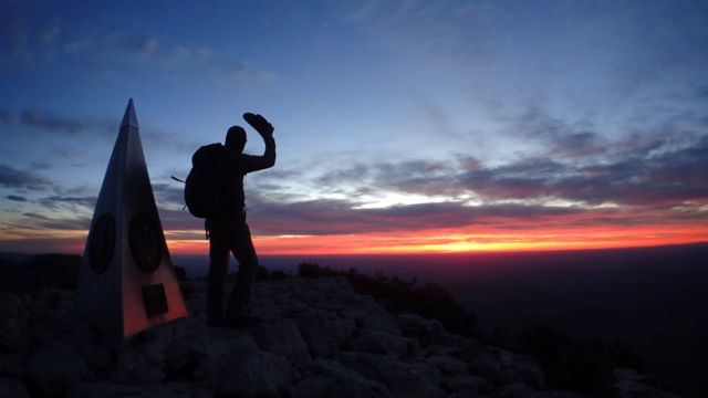
[[251, 231], [246, 222], [239, 223], [231, 250], [239, 262], [227, 308], [227, 321], [233, 322], [243, 318], [250, 312], [251, 287], [258, 271], [258, 256], [251, 241]]

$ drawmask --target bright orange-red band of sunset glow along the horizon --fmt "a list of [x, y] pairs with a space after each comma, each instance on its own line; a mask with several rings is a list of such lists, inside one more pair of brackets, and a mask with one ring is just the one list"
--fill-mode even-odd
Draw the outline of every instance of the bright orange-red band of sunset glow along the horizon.
[[[201, 232], [204, 233], [204, 232]], [[708, 227], [639, 227], [616, 230], [532, 231], [529, 233], [424, 231], [424, 233], [362, 233], [350, 235], [272, 235], [254, 237], [259, 254], [335, 255], [335, 254], [416, 254], [514, 251], [556, 251], [638, 248], [686, 244], [708, 241]], [[174, 254], [207, 254], [205, 239], [169, 240]]]

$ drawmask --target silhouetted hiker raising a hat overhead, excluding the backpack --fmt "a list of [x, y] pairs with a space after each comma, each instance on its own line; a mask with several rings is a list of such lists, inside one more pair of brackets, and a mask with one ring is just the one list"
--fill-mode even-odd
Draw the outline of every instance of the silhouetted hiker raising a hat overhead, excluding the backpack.
[[[207, 323], [210, 326], [252, 326], [260, 318], [249, 315], [251, 286], [258, 269], [258, 256], [246, 223], [243, 177], [251, 171], [273, 167], [275, 140], [273, 126], [261, 115], [243, 114], [243, 118], [266, 142], [262, 156], [242, 154], [246, 130], [240, 126], [229, 128], [226, 135], [221, 165], [221, 198], [219, 210], [207, 216], [209, 235], [209, 277], [207, 291]], [[229, 251], [239, 262], [233, 290], [223, 316], [223, 280], [229, 268]]]

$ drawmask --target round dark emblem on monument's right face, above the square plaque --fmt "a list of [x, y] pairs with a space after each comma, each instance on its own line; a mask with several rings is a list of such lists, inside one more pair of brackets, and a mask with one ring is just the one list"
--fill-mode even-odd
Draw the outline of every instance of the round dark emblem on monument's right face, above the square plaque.
[[163, 237], [155, 220], [147, 213], [137, 213], [131, 220], [131, 252], [137, 266], [153, 272], [163, 258]]

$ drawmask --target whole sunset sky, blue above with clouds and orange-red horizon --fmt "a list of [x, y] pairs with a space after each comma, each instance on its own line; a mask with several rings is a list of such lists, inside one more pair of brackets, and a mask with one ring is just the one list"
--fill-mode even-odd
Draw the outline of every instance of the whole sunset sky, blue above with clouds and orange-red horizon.
[[0, 252], [83, 252], [131, 97], [173, 253], [243, 112], [261, 254], [708, 241], [706, 1], [206, 3], [1, 2]]

